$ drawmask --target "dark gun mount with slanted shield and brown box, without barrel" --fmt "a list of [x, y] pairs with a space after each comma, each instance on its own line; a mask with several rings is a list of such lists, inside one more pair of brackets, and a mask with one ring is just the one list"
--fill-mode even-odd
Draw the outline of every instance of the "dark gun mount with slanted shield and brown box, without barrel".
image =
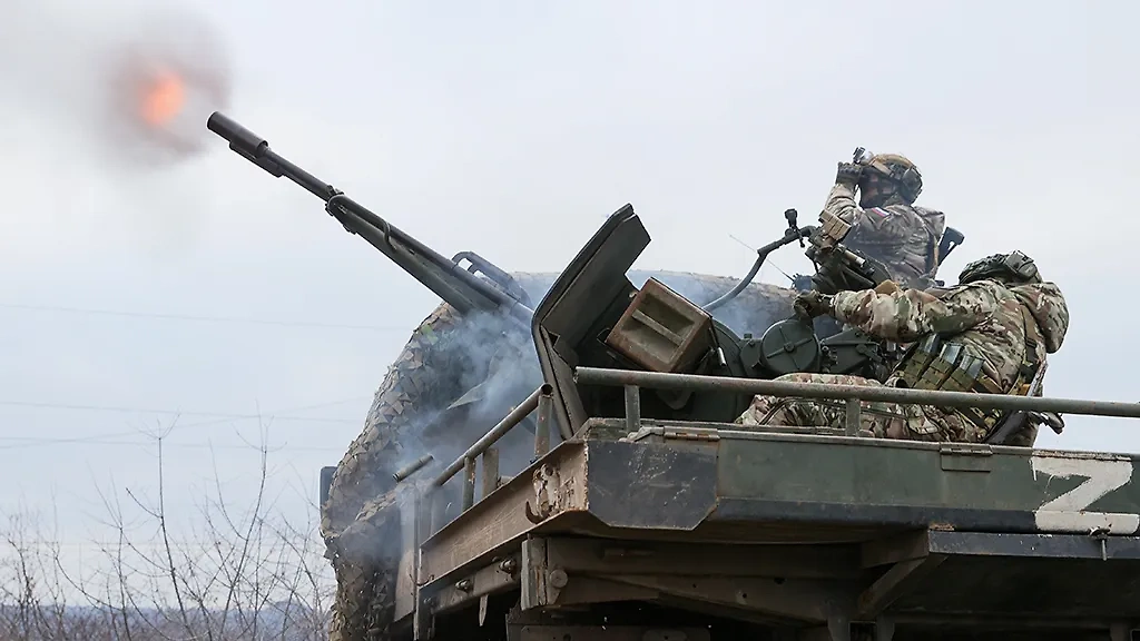
[[[811, 233], [813, 228], [795, 226], [793, 213], [785, 212], [788, 230], [758, 251], [758, 262]], [[792, 317], [758, 338], [742, 338], [709, 314], [712, 305], [701, 308], [652, 278], [638, 290], [626, 273], [649, 242], [633, 206], [627, 204], [609, 218], [539, 305], [548, 308], [545, 326], [535, 327], [539, 352], [544, 341], [553, 340], [553, 349], [575, 366], [741, 379], [774, 379], [791, 372], [882, 376], [882, 364], [891, 358], [888, 346], [855, 330], [821, 340], [811, 323]], [[750, 401], [751, 397], [732, 392], [659, 390], [646, 393], [642, 407], [646, 416], [659, 419], [732, 421]], [[604, 413], [620, 407], [621, 398], [597, 389], [584, 403], [584, 412]]]

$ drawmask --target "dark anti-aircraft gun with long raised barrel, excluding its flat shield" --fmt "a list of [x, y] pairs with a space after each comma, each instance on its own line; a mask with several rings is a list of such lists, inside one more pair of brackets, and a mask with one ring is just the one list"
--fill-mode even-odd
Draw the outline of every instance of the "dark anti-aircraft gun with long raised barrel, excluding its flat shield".
[[[221, 113], [210, 116], [207, 128], [229, 141], [230, 149], [238, 155], [274, 177], [287, 178], [321, 198], [326, 212], [348, 232], [365, 238], [459, 314], [492, 314], [507, 319], [514, 330], [528, 328], [534, 311], [528, 307], [530, 301], [526, 292], [490, 261], [470, 251], [461, 252], [450, 260], [445, 258], [340, 189], [284, 159], [269, 147], [267, 140]], [[600, 300], [597, 297], [612, 286], [626, 283], [630, 287], [621, 290], [622, 297], [627, 298], [614, 299], [610, 307], [597, 310], [596, 317], [592, 316], [593, 311], [586, 311], [593, 308], [584, 305], [579, 318], [592, 318], [589, 327], [583, 328], [586, 335], [592, 340], [600, 336], [600, 332], [608, 333], [600, 341], [583, 342], [579, 346], [583, 358], [606, 366], [734, 378], [773, 379], [789, 372], [883, 378], [895, 356], [894, 346], [883, 344], [856, 330], [821, 340], [811, 323], [789, 318], [767, 328], [759, 338], [741, 338], [711, 316], [712, 310], [738, 295], [751, 282], [769, 253], [797, 242], [804, 246], [805, 240], [812, 243], [808, 255], [817, 260], [820, 268], [813, 276], [816, 284], [832, 286], [847, 283], [849, 286], [873, 287], [886, 279], [881, 265], [842, 245], [838, 225], [825, 222], [820, 228], [799, 227], [795, 209], [787, 210], [784, 217], [788, 222], [784, 235], [757, 251], [756, 262], [735, 287], [703, 307], [693, 305], [652, 278], [636, 291], [625, 278], [625, 270], [621, 275], [609, 274], [613, 277], [612, 283], [597, 283], [597, 292], [586, 290], [588, 299]], [[626, 219], [641, 228], [629, 205], [612, 218], [614, 221]], [[644, 228], [641, 228], [641, 234], [645, 234]], [[463, 260], [471, 263], [467, 269], [462, 267]], [[480, 278], [479, 274], [484, 278]], [[663, 346], [668, 346], [668, 354], [661, 351]], [[689, 420], [731, 420], [748, 404], [742, 395], [661, 392], [658, 397], [671, 415]], [[653, 407], [651, 404], [646, 411], [653, 412]]]

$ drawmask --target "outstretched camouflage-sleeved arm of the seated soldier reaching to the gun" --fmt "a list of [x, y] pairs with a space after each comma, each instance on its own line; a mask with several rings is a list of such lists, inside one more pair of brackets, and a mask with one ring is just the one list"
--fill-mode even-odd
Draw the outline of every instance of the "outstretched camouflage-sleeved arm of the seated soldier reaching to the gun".
[[997, 299], [985, 287], [962, 287], [945, 298], [922, 290], [879, 293], [874, 290], [839, 292], [829, 311], [838, 320], [888, 341], [910, 342], [920, 336], [956, 334], [988, 318]]

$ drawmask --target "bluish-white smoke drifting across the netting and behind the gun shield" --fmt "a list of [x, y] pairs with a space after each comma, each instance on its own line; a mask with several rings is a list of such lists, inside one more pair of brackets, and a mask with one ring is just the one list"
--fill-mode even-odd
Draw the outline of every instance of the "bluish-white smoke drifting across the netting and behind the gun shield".
[[[514, 276], [530, 297], [532, 306], [538, 305], [557, 277], [556, 274]], [[731, 277], [685, 273], [630, 271], [627, 276], [635, 286], [643, 285], [649, 277], [656, 277], [697, 305], [718, 298], [736, 283]], [[784, 298], [782, 303], [780, 299], [773, 289], [754, 284], [740, 297], [717, 309], [715, 316], [735, 332], [752, 331], [759, 334], [772, 323], [790, 314], [790, 297]], [[406, 510], [405, 514], [410, 514], [412, 497], [416, 488], [426, 489], [447, 465], [457, 461], [472, 444], [505, 417], [513, 406], [542, 384], [543, 378], [530, 333], [507, 331], [508, 327], [507, 322], [496, 316], [471, 315], [463, 318], [457, 327], [438, 331], [438, 342], [427, 352], [405, 355], [417, 362], [415, 367], [418, 368], [418, 378], [409, 374], [393, 388], [385, 386], [384, 391], [377, 395], [363, 435], [365, 439], [372, 439], [367, 446], [370, 456], [366, 457], [367, 462], [358, 461], [368, 471], [358, 468], [348, 481], [352, 486], [355, 500], [369, 501], [383, 495], [392, 482], [389, 474], [430, 454], [431, 463], [401, 481], [396, 493], [394, 500]], [[389, 374], [392, 375], [397, 374]], [[380, 409], [386, 407], [391, 412], [390, 405], [385, 404], [399, 401], [404, 395], [415, 400], [401, 405], [401, 424], [396, 433], [381, 435], [375, 431], [390, 429], [381, 424], [386, 419], [380, 415]], [[463, 395], [467, 395], [466, 398]], [[454, 405], [462, 405], [462, 409], [456, 409]], [[530, 420], [534, 421], [537, 412], [532, 412]], [[535, 423], [531, 422], [528, 427], [532, 428]], [[389, 438], [394, 438], [396, 443], [390, 444]], [[522, 425], [516, 425], [502, 437], [495, 444], [498, 449], [499, 473], [515, 476], [528, 468], [535, 460], [534, 443], [534, 432]], [[559, 437], [552, 435], [551, 443], [556, 445]], [[480, 464], [477, 470], [477, 496], [481, 492], [482, 474]], [[445, 522], [461, 512], [463, 477], [461, 470], [437, 494], [437, 501], [442, 502], [441, 516]], [[359, 506], [337, 506], [339, 510], [345, 508], [348, 512], [342, 517], [355, 513]], [[405, 517], [405, 538], [410, 536], [410, 524], [412, 519]], [[382, 543], [375, 541], [375, 536], [367, 534], [366, 529], [341, 541], [355, 554], [377, 553]], [[389, 543], [385, 553], [394, 553], [394, 542]]]

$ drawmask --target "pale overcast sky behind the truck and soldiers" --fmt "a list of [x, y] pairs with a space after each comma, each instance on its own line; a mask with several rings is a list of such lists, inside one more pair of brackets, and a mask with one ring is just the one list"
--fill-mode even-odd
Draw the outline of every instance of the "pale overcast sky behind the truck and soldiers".
[[[787, 208], [813, 220], [857, 145], [906, 154], [919, 204], [967, 236], [944, 277], [1019, 249], [1067, 295], [1047, 395], [1135, 399], [1140, 5], [184, 2], [229, 47], [229, 115], [441, 253], [512, 270], [561, 270], [628, 202], [653, 237], [637, 267], [741, 275], [755, 254], [730, 234], [758, 246]], [[14, 6], [0, 510], [55, 500], [66, 541], [104, 536], [95, 486], [153, 486], [137, 432], [177, 411], [170, 509], [192, 508], [213, 461], [247, 492], [259, 428], [241, 416], [261, 412], [277, 414], [274, 492], [303, 516], [438, 300], [220, 139], [179, 165], [113, 167], [70, 117], [98, 91], [60, 87], [90, 80], [82, 34], [125, 36], [136, 8]], [[797, 249], [772, 260], [808, 267]], [[1140, 431], [1074, 416], [1039, 443], [1134, 452]]]

